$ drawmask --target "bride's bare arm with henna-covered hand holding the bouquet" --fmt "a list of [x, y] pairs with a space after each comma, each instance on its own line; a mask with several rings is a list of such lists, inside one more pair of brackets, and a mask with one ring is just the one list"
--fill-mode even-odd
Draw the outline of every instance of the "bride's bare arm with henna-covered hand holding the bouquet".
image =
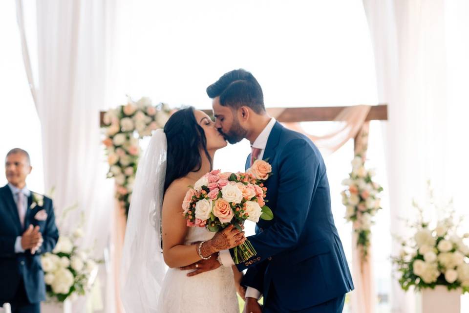
[[[166, 191], [163, 201], [163, 258], [170, 268], [187, 266], [201, 260], [197, 251], [198, 245], [184, 245], [189, 230], [182, 210], [186, 190], [187, 184], [175, 182]], [[218, 251], [237, 246], [244, 240], [244, 232], [239, 232], [231, 226], [227, 227], [202, 245], [202, 256], [208, 257]]]

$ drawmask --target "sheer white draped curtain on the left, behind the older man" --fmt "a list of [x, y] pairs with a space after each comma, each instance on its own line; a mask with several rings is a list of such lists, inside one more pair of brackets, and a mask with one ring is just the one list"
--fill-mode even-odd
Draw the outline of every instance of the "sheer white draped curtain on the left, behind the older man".
[[[85, 212], [83, 246], [94, 246], [94, 256], [100, 259], [107, 254], [114, 202], [112, 181], [106, 180], [99, 112], [109, 106], [112, 92], [109, 78], [118, 4], [17, 0], [23, 59], [41, 122], [45, 190], [55, 188], [58, 216], [73, 204]], [[31, 19], [36, 24], [31, 25]], [[78, 214], [70, 213], [61, 231], [76, 226]], [[112, 275], [106, 278], [105, 272], [103, 266], [101, 277], [110, 279]], [[113, 293], [107, 294], [107, 311], [113, 312]], [[82, 299], [74, 311], [84, 310]]]

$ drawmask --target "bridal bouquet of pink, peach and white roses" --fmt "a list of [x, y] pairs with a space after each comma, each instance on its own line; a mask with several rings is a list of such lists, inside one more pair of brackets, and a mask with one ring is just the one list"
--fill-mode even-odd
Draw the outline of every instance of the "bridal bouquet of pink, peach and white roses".
[[[257, 223], [259, 219], [272, 220], [274, 214], [265, 205], [272, 167], [256, 160], [246, 173], [221, 173], [214, 170], [197, 180], [186, 193], [182, 207], [188, 226], [206, 227], [217, 232], [233, 224], [241, 229], [245, 220]], [[246, 240], [234, 249], [235, 263], [256, 255], [252, 244]]]

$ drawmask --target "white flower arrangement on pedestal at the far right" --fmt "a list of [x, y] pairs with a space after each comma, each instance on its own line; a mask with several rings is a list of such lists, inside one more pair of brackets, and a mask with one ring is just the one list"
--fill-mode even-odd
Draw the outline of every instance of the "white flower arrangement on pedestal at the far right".
[[393, 257], [401, 273], [401, 288], [407, 291], [411, 286], [421, 290], [443, 285], [448, 290], [469, 292], [469, 247], [465, 243], [469, 233], [458, 233], [462, 219], [454, 222], [452, 201], [439, 207], [429, 187], [429, 205], [425, 211], [443, 212], [442, 217], [433, 222], [425, 220], [424, 208], [416, 201], [412, 205], [419, 213], [417, 222], [409, 224], [413, 236], [400, 238], [401, 253]]

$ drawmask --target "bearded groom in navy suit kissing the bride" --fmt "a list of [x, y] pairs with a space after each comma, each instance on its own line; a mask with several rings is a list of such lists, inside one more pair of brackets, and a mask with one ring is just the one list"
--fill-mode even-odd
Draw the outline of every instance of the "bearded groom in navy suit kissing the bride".
[[[283, 127], [264, 107], [256, 78], [243, 69], [232, 70], [207, 88], [213, 99], [215, 126], [232, 144], [247, 138], [255, 159], [267, 160], [272, 175], [265, 183], [272, 221], [260, 220], [256, 235], [248, 237], [257, 254], [237, 265], [248, 268], [246, 312], [342, 312], [352, 278], [331, 212], [326, 167], [313, 142]], [[232, 266], [233, 251], [218, 260]], [[214, 259], [214, 258], [212, 258]], [[214, 262], [208, 260], [208, 262]], [[196, 273], [216, 268], [200, 265]]]

